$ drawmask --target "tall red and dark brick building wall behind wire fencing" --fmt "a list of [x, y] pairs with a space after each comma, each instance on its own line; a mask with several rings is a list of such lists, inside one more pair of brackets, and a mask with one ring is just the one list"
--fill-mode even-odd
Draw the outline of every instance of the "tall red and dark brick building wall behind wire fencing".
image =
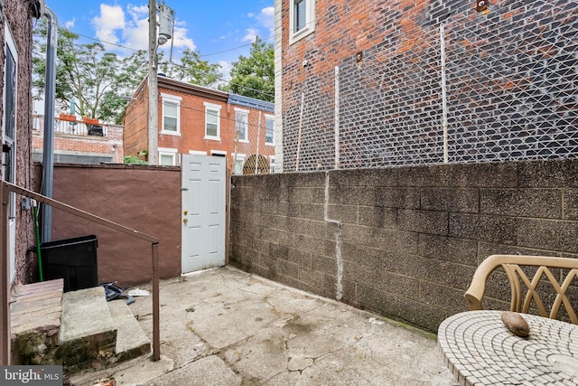
[[578, 155], [578, 3], [316, 0], [291, 45], [281, 3], [285, 171]]

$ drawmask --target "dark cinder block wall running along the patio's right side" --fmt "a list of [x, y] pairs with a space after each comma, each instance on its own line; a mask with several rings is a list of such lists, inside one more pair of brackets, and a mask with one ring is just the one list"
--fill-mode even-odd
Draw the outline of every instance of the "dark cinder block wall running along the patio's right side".
[[[578, 258], [577, 173], [560, 160], [233, 176], [229, 262], [434, 332], [467, 309], [489, 255]], [[506, 278], [488, 295], [508, 307]]]

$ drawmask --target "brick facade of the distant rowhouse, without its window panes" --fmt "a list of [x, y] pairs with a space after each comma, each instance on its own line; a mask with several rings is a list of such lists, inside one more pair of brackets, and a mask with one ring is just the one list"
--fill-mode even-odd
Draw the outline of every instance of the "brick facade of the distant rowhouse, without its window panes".
[[[163, 76], [159, 84], [159, 152], [171, 149], [175, 154], [206, 154], [227, 156], [227, 167], [233, 169], [235, 155], [260, 155], [267, 162], [273, 161], [275, 147], [266, 143], [266, 118], [273, 118], [273, 103], [236, 96], [216, 89], [208, 89], [172, 80]], [[148, 147], [147, 111], [148, 91], [144, 80], [135, 91], [126, 108], [124, 149], [125, 155], [138, 155]], [[163, 95], [178, 99], [180, 103], [180, 133], [163, 133]], [[219, 139], [205, 135], [206, 106], [219, 108]], [[236, 112], [247, 112], [247, 140], [237, 140]], [[259, 122], [260, 120], [260, 122]], [[239, 158], [238, 158], [239, 159]]]

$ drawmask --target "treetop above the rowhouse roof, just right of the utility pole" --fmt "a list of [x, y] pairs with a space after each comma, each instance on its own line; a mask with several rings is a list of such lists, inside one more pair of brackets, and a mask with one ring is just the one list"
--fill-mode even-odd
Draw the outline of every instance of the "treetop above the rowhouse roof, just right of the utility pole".
[[181, 64], [163, 62], [161, 56], [159, 58], [159, 68], [169, 78], [188, 81], [203, 87], [214, 86], [220, 78], [220, 65], [202, 61], [198, 51], [185, 50], [182, 52], [180, 61]]

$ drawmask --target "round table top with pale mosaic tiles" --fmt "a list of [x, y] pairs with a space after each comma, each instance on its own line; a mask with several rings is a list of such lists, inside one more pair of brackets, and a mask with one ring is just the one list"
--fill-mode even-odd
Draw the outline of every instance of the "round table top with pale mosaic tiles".
[[578, 385], [578, 325], [524, 314], [523, 338], [501, 313], [463, 312], [440, 325], [443, 361], [462, 385]]

